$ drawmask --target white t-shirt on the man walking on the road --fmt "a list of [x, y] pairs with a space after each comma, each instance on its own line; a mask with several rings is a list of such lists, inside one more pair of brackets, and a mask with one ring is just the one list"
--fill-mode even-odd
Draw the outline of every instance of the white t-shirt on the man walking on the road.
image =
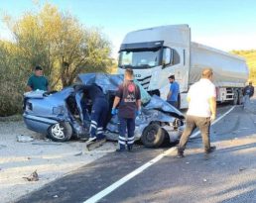
[[210, 117], [209, 99], [216, 97], [215, 85], [208, 79], [201, 78], [195, 82], [188, 93], [191, 98], [187, 115], [198, 117]]

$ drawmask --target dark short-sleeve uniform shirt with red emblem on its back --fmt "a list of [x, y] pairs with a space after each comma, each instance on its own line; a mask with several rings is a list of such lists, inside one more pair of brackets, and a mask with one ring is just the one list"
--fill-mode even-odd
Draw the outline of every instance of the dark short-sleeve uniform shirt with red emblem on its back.
[[133, 81], [127, 81], [119, 85], [116, 96], [120, 98], [118, 116], [135, 118], [136, 102], [141, 99], [140, 88]]

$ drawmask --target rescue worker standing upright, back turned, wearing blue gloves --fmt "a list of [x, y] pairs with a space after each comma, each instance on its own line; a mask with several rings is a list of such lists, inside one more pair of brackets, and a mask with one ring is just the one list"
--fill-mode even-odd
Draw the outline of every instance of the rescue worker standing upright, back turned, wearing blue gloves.
[[[119, 118], [119, 149], [117, 152], [124, 152], [127, 144], [131, 152], [134, 144], [135, 118], [141, 114], [141, 92], [138, 85], [133, 82], [133, 70], [127, 68], [124, 73], [124, 82], [119, 85], [113, 103], [112, 115], [117, 114]], [[126, 139], [126, 129], [128, 138]]]

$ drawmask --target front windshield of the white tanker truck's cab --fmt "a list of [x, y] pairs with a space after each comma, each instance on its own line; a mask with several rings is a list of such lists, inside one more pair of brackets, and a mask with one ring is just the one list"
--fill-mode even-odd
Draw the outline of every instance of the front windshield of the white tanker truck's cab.
[[146, 51], [121, 51], [118, 66], [122, 68], [151, 68], [160, 65], [161, 49]]

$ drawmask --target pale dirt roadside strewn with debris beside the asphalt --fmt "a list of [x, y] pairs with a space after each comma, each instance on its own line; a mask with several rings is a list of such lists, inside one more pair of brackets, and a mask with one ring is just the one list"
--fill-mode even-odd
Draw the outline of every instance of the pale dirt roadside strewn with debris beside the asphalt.
[[[34, 141], [19, 143], [19, 135], [33, 137]], [[27, 130], [22, 121], [0, 122], [1, 202], [14, 202], [71, 170], [115, 151], [115, 145], [106, 143], [97, 150], [87, 152], [85, 144], [79, 141], [50, 142], [42, 135]], [[29, 182], [23, 178], [35, 170], [39, 181]]]

